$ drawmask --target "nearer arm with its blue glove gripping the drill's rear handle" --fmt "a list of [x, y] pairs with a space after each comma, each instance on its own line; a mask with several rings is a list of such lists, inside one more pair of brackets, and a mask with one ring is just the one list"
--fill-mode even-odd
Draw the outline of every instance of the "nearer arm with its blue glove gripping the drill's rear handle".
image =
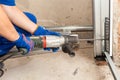
[[[12, 41], [18, 48], [25, 48], [29, 52], [34, 44], [24, 35], [18, 34], [11, 21], [0, 6], [0, 36]], [[8, 45], [9, 46], [9, 45]]]

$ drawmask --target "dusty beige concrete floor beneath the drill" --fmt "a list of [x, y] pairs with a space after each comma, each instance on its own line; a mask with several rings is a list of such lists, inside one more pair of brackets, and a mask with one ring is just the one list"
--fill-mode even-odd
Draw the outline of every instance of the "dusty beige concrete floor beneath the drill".
[[5, 64], [0, 80], [114, 80], [107, 65], [95, 64], [92, 48], [77, 51], [73, 58], [58, 52], [9, 59]]

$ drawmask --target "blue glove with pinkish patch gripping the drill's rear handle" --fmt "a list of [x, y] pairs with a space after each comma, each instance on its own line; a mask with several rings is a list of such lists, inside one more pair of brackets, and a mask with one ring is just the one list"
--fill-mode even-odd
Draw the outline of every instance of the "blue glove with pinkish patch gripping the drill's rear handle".
[[16, 47], [24, 48], [27, 50], [27, 53], [29, 53], [34, 48], [34, 43], [29, 37], [25, 37], [24, 34], [20, 34], [20, 37], [15, 42]]

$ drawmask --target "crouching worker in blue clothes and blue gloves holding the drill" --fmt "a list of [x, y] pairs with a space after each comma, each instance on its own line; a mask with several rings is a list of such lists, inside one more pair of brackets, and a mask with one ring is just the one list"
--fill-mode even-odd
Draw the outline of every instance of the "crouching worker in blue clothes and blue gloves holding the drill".
[[[6, 55], [14, 46], [25, 48], [29, 53], [34, 48], [34, 42], [29, 38], [32, 35], [61, 36], [60, 33], [38, 26], [36, 17], [17, 8], [15, 0], [0, 0], [0, 56]], [[53, 52], [57, 50], [52, 48]]]

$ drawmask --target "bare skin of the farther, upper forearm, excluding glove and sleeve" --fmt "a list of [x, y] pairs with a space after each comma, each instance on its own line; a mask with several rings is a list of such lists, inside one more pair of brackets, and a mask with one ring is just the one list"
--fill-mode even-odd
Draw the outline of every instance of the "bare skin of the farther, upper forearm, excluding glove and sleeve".
[[2, 8], [8, 15], [9, 19], [20, 28], [30, 32], [31, 34], [33, 34], [37, 29], [37, 25], [29, 20], [16, 6], [2, 5]]

